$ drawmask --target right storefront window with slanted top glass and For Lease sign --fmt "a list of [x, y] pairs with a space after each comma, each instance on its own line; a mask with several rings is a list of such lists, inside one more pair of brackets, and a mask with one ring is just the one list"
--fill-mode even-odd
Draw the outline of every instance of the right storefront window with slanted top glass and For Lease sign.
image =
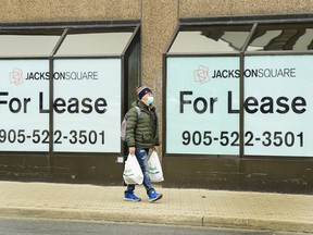
[[313, 23], [230, 24], [181, 24], [167, 50], [166, 153], [312, 157]]

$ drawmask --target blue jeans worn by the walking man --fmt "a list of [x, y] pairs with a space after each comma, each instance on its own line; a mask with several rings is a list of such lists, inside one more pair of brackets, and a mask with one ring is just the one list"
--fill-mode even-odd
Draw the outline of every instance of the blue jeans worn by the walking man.
[[[148, 153], [149, 153], [149, 149], [136, 148], [135, 154], [143, 174], [143, 186], [147, 190], [147, 194], [149, 195], [152, 190], [154, 190], [154, 188], [152, 187], [151, 178], [148, 172]], [[135, 185], [127, 185], [127, 189], [125, 194], [132, 193], [134, 190], [135, 190]]]

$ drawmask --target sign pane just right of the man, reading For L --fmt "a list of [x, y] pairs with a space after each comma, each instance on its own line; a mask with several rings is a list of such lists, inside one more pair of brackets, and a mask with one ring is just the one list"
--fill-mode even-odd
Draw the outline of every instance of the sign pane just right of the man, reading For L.
[[168, 58], [166, 66], [166, 152], [239, 154], [239, 58]]

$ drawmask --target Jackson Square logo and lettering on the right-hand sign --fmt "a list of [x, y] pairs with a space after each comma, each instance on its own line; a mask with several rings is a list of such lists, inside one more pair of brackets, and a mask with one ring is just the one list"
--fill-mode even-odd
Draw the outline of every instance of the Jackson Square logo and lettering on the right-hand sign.
[[[243, 70], [245, 77], [296, 77], [295, 67], [283, 67], [283, 69], [246, 69]], [[209, 74], [209, 67], [204, 65], [199, 65], [198, 69], [193, 71], [193, 77], [196, 83], [204, 84], [210, 82], [210, 79], [216, 78], [239, 78], [240, 70], [213, 70]]]

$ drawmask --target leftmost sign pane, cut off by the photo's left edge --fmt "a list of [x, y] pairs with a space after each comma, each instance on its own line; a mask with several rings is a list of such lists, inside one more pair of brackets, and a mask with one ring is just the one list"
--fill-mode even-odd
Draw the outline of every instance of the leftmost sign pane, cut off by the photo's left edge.
[[[48, 151], [48, 60], [0, 60], [0, 150]], [[36, 73], [38, 81], [29, 81]]]

